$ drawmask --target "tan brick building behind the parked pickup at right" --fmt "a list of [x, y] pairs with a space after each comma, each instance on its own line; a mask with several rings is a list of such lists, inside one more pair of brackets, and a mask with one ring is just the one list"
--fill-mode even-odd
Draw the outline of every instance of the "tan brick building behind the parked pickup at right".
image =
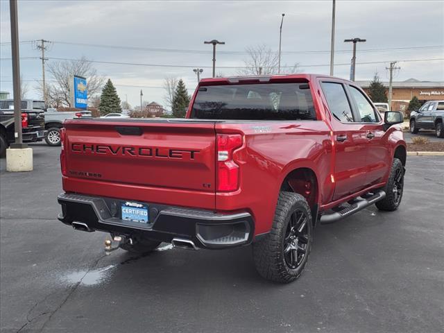
[[[368, 87], [372, 81], [356, 81], [368, 94]], [[388, 96], [388, 82], [382, 82], [386, 87]], [[409, 78], [402, 82], [393, 82], [391, 110], [407, 110], [409, 101], [413, 96], [418, 97], [421, 103], [426, 101], [444, 100], [444, 82], [420, 81]]]

